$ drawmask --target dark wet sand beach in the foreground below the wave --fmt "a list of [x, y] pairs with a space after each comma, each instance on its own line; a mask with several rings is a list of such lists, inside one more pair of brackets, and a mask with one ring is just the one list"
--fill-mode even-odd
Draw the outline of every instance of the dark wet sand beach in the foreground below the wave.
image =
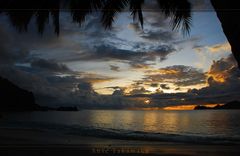
[[239, 155], [239, 145], [184, 144], [0, 128], [0, 155]]

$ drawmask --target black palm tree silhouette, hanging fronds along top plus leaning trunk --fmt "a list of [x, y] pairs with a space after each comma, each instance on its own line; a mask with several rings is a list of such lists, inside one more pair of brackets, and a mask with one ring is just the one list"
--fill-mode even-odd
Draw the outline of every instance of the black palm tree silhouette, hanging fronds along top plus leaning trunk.
[[[188, 0], [156, 0], [161, 12], [171, 17], [173, 30], [182, 30], [188, 34], [191, 26], [191, 4]], [[236, 0], [211, 0], [217, 16], [222, 23], [223, 31], [231, 45], [232, 53], [240, 68], [240, 10]], [[52, 16], [55, 33], [59, 34], [59, 12], [68, 9], [74, 22], [81, 25], [86, 16], [94, 11], [102, 14], [101, 22], [111, 28], [116, 14], [126, 9], [138, 18], [143, 27], [142, 5], [144, 0], [0, 0], [0, 13], [9, 16], [12, 24], [20, 31], [27, 31], [32, 17], [40, 34]], [[234, 10], [232, 10], [234, 9]]]

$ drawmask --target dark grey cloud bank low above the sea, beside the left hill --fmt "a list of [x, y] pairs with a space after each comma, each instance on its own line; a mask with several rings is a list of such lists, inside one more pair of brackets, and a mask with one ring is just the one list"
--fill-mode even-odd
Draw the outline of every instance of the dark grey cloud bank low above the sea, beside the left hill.
[[32, 74], [13, 66], [1, 66], [0, 75], [19, 87], [32, 91], [40, 105], [51, 107], [78, 105], [92, 108], [105, 104], [105, 99], [94, 91], [92, 83], [84, 74], [83, 78], [50, 76], [50, 73]]

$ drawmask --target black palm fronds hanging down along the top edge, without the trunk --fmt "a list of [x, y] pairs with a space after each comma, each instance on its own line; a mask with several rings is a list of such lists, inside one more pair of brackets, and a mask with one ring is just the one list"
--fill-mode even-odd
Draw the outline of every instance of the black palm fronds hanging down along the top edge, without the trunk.
[[[191, 5], [188, 0], [157, 0], [162, 13], [172, 17], [173, 29], [182, 29], [189, 33], [191, 22]], [[129, 11], [133, 19], [138, 16], [143, 27], [142, 5], [144, 0], [9, 0], [0, 2], [0, 13], [5, 12], [12, 24], [21, 32], [27, 31], [32, 17], [36, 18], [36, 25], [40, 34], [44, 32], [45, 24], [49, 22], [49, 15], [52, 17], [55, 33], [59, 34], [59, 12], [60, 6], [71, 12], [73, 22], [80, 25], [85, 21], [86, 16], [94, 11], [102, 13], [102, 25], [109, 29], [116, 18], [117, 13]]]

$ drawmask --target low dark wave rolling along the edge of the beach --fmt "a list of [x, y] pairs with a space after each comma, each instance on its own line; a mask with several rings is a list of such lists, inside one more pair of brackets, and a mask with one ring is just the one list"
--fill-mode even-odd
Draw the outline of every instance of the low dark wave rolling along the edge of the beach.
[[67, 135], [92, 136], [100, 138], [111, 138], [121, 140], [159, 141], [194, 144], [226, 144], [240, 145], [239, 137], [225, 136], [202, 136], [169, 133], [152, 133], [143, 131], [132, 131], [124, 129], [111, 129], [101, 127], [86, 127], [79, 125], [61, 125], [36, 122], [14, 122], [1, 124], [0, 128], [31, 129], [41, 131], [60, 132]]

